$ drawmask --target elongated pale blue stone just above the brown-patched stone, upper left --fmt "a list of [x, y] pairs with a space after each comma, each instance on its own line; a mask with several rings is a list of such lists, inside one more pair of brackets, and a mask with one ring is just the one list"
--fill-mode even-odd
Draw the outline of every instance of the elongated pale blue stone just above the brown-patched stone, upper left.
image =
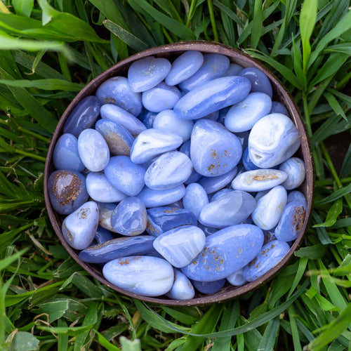
[[131, 135], [138, 135], [142, 131], [145, 131], [146, 127], [144, 124], [137, 119], [133, 114], [124, 110], [124, 108], [117, 105], [105, 104], [101, 106], [100, 114], [102, 119], [107, 119], [120, 124]]

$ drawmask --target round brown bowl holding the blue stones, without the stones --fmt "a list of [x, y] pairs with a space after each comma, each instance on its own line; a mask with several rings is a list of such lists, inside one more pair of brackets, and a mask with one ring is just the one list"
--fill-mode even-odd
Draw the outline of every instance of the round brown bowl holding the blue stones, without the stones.
[[[305, 222], [303, 223], [303, 230], [300, 236], [293, 242], [293, 245], [291, 246], [289, 252], [281, 261], [279, 261], [277, 265], [275, 265], [271, 270], [263, 274], [263, 276], [258, 278], [256, 281], [250, 282], [239, 287], [232, 286], [229, 283], [226, 283], [225, 286], [223, 286], [223, 289], [221, 289], [217, 293], [213, 293], [211, 295], [196, 293], [195, 297], [192, 300], [171, 300], [164, 296], [152, 298], [147, 296], [141, 296], [135, 293], [130, 293], [128, 291], [125, 291], [124, 289], [120, 289], [119, 287], [114, 286], [110, 282], [107, 282], [107, 280], [102, 276], [102, 268], [99, 265], [84, 263], [78, 258], [79, 251], [72, 249], [72, 247], [67, 244], [67, 241], [65, 241], [65, 238], [62, 235], [61, 225], [64, 216], [61, 216], [60, 214], [56, 213], [51, 206], [51, 202], [48, 196], [48, 177], [55, 170], [55, 168], [53, 167], [53, 150], [55, 144], [57, 143], [58, 138], [60, 138], [60, 136], [62, 135], [63, 126], [65, 125], [67, 117], [80, 100], [82, 100], [88, 95], [93, 95], [98, 86], [100, 86], [100, 84], [102, 84], [102, 82], [106, 81], [107, 79], [114, 76], [126, 77], [128, 67], [131, 65], [132, 62], [135, 62], [140, 58], [145, 58], [147, 56], [153, 55], [158, 58], [168, 58], [172, 62], [175, 58], [178, 57], [178, 55], [189, 50], [201, 51], [201, 53], [220, 53], [222, 55], [226, 55], [228, 58], [230, 58], [230, 61], [233, 63], [237, 63], [243, 67], [257, 67], [258, 69], [261, 69], [270, 79], [273, 88], [272, 100], [282, 102], [285, 105], [286, 109], [289, 111], [291, 119], [298, 128], [298, 133], [300, 135], [301, 146], [297, 154], [298, 157], [303, 159], [303, 161], [305, 162], [306, 178], [303, 185], [301, 185], [298, 190], [305, 194], [305, 197], [307, 199], [307, 211]], [[262, 284], [265, 284], [269, 279], [272, 279], [272, 277], [275, 274], [277, 274], [277, 272], [279, 272], [279, 270], [281, 270], [282, 267], [284, 267], [284, 265], [286, 265], [291, 256], [293, 256], [294, 251], [296, 251], [303, 239], [303, 235], [307, 230], [307, 223], [310, 220], [312, 212], [313, 188], [314, 171], [310, 143], [307, 138], [307, 133], [305, 131], [303, 121], [300, 117], [300, 113], [298, 112], [298, 108], [293, 102], [293, 99], [291, 98], [289, 92], [286, 91], [286, 88], [284, 88], [282, 83], [277, 79], [277, 77], [274, 76], [274, 74], [270, 72], [269, 69], [260, 64], [260, 62], [257, 62], [256, 60], [251, 58], [249, 55], [246, 55], [246, 53], [238, 51], [229, 46], [209, 41], [183, 41], [176, 44], [168, 44], [164, 46], [158, 46], [156, 48], [150, 48], [140, 53], [136, 53], [135, 55], [132, 55], [131, 57], [126, 58], [121, 62], [118, 62], [116, 65], [110, 67], [98, 77], [93, 79], [93, 81], [87, 84], [81, 90], [81, 92], [77, 94], [77, 96], [72, 100], [65, 112], [62, 114], [62, 117], [58, 122], [58, 126], [55, 129], [55, 133], [53, 134], [51, 145], [48, 148], [48, 155], [46, 157], [44, 171], [44, 195], [46, 201], [46, 208], [48, 210], [48, 216], [53, 225], [53, 229], [55, 230], [60, 241], [62, 242], [62, 245], [65, 246], [65, 249], [69, 252], [72, 258], [74, 258], [74, 260], [76, 260], [77, 263], [79, 263], [79, 265], [81, 265], [81, 267], [84, 268], [84, 270], [86, 270], [93, 277], [98, 279], [99, 282], [105, 284], [106, 286], [109, 286], [111, 289], [114, 289], [115, 291], [118, 291], [119, 293], [122, 293], [126, 296], [138, 298], [139, 300], [147, 301], [150, 303], [159, 303], [162, 305], [207, 305], [212, 303], [223, 302], [225, 300], [237, 298], [238, 296], [241, 296], [245, 293], [249, 293], [250, 291], [257, 289]]]

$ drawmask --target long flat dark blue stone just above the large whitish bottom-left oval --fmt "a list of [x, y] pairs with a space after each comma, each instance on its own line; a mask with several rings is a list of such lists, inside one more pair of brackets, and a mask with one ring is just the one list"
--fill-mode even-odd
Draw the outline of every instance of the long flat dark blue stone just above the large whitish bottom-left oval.
[[79, 253], [79, 259], [88, 263], [106, 263], [125, 256], [138, 256], [150, 253], [154, 237], [138, 235], [105, 241], [102, 244], [89, 246]]

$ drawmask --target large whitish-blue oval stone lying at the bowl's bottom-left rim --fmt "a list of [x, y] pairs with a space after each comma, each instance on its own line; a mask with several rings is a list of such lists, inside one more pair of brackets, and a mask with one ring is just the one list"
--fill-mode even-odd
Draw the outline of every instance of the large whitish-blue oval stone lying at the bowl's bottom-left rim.
[[164, 259], [152, 256], [126, 256], [107, 262], [105, 279], [131, 293], [160, 296], [171, 290], [173, 267]]

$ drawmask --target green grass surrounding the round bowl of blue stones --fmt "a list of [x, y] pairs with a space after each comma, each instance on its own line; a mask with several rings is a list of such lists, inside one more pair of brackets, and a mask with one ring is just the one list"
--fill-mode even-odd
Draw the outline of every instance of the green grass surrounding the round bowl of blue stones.
[[[2, 1], [1, 350], [350, 351], [350, 1]], [[291, 91], [310, 135], [314, 208], [303, 246], [267, 285], [209, 307], [151, 306], [68, 257], [46, 213], [44, 162], [88, 81], [189, 39], [246, 51]]]

